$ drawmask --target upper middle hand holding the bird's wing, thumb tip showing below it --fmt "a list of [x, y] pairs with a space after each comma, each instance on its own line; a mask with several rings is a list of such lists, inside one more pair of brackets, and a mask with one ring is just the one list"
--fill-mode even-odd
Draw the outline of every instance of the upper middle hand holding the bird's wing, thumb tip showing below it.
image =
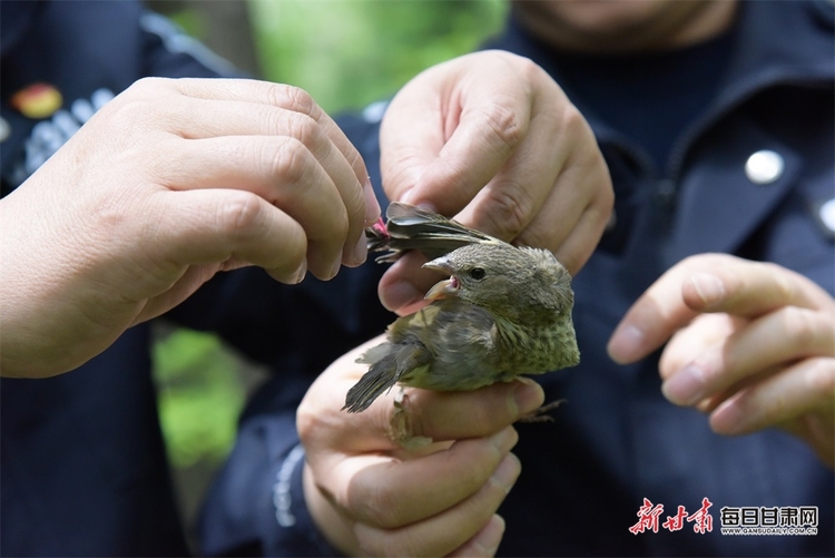
[[[507, 242], [548, 248], [573, 275], [611, 213], [591, 129], [525, 58], [484, 51], [441, 63], [392, 100], [380, 131], [391, 200], [426, 204]], [[413, 312], [436, 280], [406, 255], [381, 281], [383, 304]]]

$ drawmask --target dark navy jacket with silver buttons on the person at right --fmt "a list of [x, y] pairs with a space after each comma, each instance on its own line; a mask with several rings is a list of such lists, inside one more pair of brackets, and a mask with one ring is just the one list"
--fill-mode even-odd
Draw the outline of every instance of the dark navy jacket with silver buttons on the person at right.
[[[532, 58], [566, 88], [592, 125], [617, 197], [613, 228], [573, 283], [582, 362], [538, 376], [547, 401], [564, 398], [568, 404], [553, 413], [553, 423], [518, 425], [514, 452], [523, 470], [499, 510], [507, 521], [500, 555], [835, 552], [833, 471], [809, 448], [777, 430], [717, 435], [704, 414], [662, 398], [658, 354], [618, 366], [605, 350], [630, 304], [691, 254], [775, 262], [833, 292], [832, 225], [819, 213], [835, 195], [832, 19], [826, 4], [743, 6], [723, 39], [727, 50], [713, 102], [686, 126], [661, 168], [587, 102], [586, 91], [573, 87], [586, 85], [583, 79], [562, 75], [568, 62], [512, 25], [491, 43]], [[374, 119], [341, 124], [374, 168]], [[777, 154], [783, 167], [758, 177], [754, 165], [750, 179], [746, 164], [763, 150]], [[341, 319], [350, 324], [356, 316]], [[307, 342], [325, 347], [328, 337]], [[285, 398], [295, 378], [276, 376], [250, 404], [235, 452], [207, 501], [206, 552], [334, 552], [304, 507], [303, 451], [293, 433], [296, 401]], [[664, 506], [659, 522], [675, 516], [678, 506], [696, 513], [707, 498], [713, 530], [697, 533], [686, 522], [678, 531], [632, 533], [645, 498]], [[721, 535], [724, 507], [817, 507], [818, 533]]]

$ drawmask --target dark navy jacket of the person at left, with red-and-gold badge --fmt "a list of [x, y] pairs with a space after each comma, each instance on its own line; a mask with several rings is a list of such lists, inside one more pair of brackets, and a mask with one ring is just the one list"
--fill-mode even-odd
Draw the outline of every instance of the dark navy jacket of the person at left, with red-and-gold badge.
[[[2, 1], [0, 20], [0, 114], [8, 125], [0, 143], [3, 195], [135, 80], [230, 70], [138, 2]], [[38, 82], [60, 91], [63, 106], [42, 119], [26, 118], [11, 97]], [[374, 280], [363, 293], [347, 293], [345, 277], [338, 281], [343, 286], [334, 283], [322, 294], [314, 281], [291, 290], [258, 270], [225, 274], [168, 319], [216, 331], [250, 358], [295, 373], [301, 365], [294, 349], [305, 345], [287, 332], [287, 316], [322, 323], [323, 339], [338, 341], [332, 343], [334, 355], [364, 340], [358, 325], [357, 334], [346, 335], [346, 325], [333, 316], [379, 306]], [[356, 305], [318, 310], [317, 301], [328, 296]], [[385, 313], [376, 315], [381, 322]], [[71, 373], [0, 381], [0, 555], [188, 554], [157, 421], [149, 343], [149, 327], [139, 325]], [[310, 353], [310, 370], [332, 360], [316, 347]], [[285, 393], [299, 397], [291, 388]]]

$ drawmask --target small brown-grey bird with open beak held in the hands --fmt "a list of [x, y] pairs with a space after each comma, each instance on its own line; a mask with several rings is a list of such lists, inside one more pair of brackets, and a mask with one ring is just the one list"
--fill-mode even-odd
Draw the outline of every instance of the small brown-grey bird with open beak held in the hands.
[[371, 364], [343, 410], [361, 412], [395, 383], [435, 391], [475, 390], [521, 374], [577, 365], [571, 275], [549, 251], [515, 247], [435, 213], [393, 203], [366, 231], [369, 248], [435, 257], [423, 266], [450, 275], [433, 301], [389, 326], [384, 343], [357, 362]]

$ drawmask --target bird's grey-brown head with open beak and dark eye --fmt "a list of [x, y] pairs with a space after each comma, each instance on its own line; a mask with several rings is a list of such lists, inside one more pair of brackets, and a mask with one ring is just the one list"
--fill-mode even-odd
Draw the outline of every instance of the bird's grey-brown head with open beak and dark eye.
[[475, 243], [424, 267], [450, 275], [426, 293], [428, 300], [458, 297], [510, 320], [570, 315], [573, 305], [571, 275], [544, 249]]

